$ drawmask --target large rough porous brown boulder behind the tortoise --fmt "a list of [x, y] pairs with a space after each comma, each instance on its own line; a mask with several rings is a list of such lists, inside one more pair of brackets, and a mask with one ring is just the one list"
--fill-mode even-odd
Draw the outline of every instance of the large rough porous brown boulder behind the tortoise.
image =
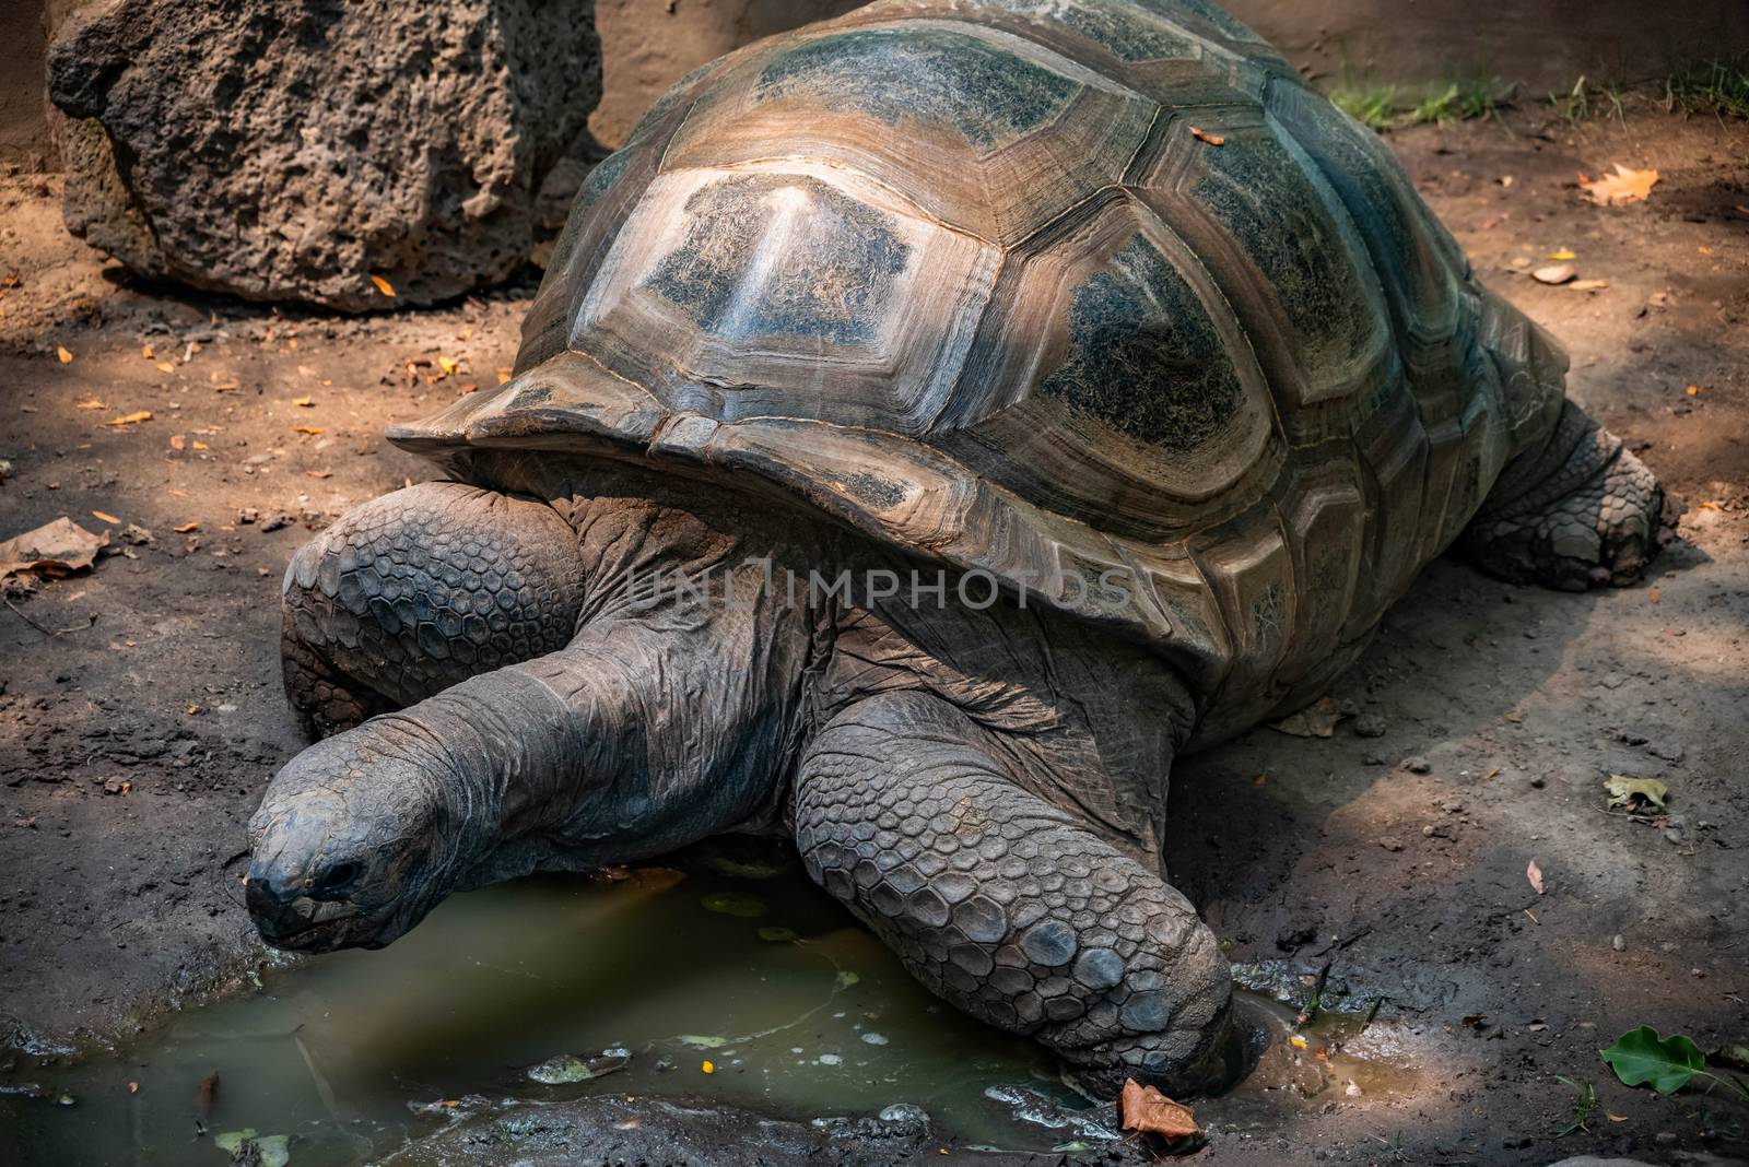
[[528, 259], [600, 52], [589, 0], [107, 0], [63, 24], [49, 96], [77, 119], [75, 234], [145, 276], [362, 311]]

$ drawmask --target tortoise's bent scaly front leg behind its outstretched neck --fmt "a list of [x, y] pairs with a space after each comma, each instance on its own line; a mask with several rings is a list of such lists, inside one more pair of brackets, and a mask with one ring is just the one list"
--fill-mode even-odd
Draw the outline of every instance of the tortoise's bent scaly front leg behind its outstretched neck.
[[544, 503], [422, 482], [346, 512], [285, 573], [285, 694], [327, 735], [563, 648], [577, 536]]

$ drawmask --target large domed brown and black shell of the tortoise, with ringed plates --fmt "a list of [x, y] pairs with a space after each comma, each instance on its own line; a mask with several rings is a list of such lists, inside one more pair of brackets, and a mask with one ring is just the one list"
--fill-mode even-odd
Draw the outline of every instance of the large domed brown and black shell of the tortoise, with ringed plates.
[[1347, 664], [1564, 367], [1214, 5], [897, 0], [680, 80], [519, 376], [390, 437], [775, 487], [1156, 645], [1237, 727]]

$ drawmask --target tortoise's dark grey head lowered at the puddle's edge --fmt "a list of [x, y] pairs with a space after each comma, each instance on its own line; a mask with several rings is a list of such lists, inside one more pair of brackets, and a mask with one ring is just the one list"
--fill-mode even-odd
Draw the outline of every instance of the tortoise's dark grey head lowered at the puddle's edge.
[[359, 730], [280, 770], [248, 825], [247, 901], [262, 938], [311, 952], [380, 949], [420, 922], [470, 853], [446, 770]]

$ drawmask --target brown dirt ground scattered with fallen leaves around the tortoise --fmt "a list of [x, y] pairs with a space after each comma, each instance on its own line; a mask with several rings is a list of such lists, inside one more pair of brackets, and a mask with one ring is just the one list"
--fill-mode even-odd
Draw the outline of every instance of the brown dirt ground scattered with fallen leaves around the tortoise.
[[[1621, 1088], [1595, 1050], [1641, 1024], [1749, 1039], [1749, 128], [1543, 107], [1390, 142], [1483, 280], [1567, 342], [1572, 395], [1663, 479], [1681, 540], [1642, 585], [1588, 596], [1436, 563], [1334, 690], [1364, 718], [1179, 767], [1168, 863], [1233, 959], [1333, 961], [1333, 987], [1382, 992], [1422, 1039], [1413, 1088], [1203, 1155], [1742, 1155], [1749, 1111]], [[1613, 162], [1662, 173], [1648, 203], [1579, 199], [1578, 173]], [[54, 176], [0, 180], [0, 538], [68, 515], [110, 549], [0, 606], [0, 1010], [35, 1053], [266, 959], [238, 877], [301, 746], [280, 573], [427, 475], [383, 425], [495, 384], [532, 293], [350, 320], [140, 287], [59, 229], [56, 197]], [[1562, 250], [1607, 287], [1522, 274]], [[1609, 774], [1662, 777], [1669, 818], [1609, 812]], [[1558, 1141], [1574, 1094], [1553, 1074], [1600, 1102]]]

